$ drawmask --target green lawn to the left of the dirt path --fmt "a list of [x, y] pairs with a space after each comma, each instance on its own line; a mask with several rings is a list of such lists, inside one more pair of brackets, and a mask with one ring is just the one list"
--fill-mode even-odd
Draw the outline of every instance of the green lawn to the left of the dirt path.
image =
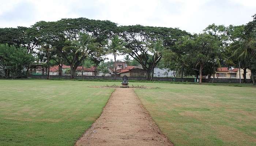
[[98, 82], [0, 80], [0, 146], [72, 146], [113, 89]]

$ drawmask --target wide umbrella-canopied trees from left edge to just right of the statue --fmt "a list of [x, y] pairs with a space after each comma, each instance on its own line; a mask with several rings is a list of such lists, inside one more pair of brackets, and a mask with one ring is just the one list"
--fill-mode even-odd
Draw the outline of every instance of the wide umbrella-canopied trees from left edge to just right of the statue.
[[184, 35], [188, 33], [177, 28], [118, 27], [110, 21], [77, 18], [41, 21], [30, 28], [0, 28], [0, 43], [26, 47], [27, 53], [36, 55], [39, 62], [53, 62], [60, 70], [63, 64], [70, 65], [71, 78], [86, 58], [90, 58], [97, 68], [105, 54], [126, 53], [142, 64], [150, 79], [150, 72], [160, 59], [152, 54], [154, 51], [149, 46], [157, 39], [162, 40], [163, 46], [173, 46]]

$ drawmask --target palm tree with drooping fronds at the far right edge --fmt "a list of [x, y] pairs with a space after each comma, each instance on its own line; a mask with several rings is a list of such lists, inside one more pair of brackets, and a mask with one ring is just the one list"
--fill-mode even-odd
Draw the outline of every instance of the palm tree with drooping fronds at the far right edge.
[[251, 70], [251, 78], [255, 84], [251, 68], [251, 59], [256, 57], [256, 33], [250, 32], [249, 34], [242, 35], [241, 39], [230, 45], [232, 50], [231, 57], [237, 58], [239, 61], [248, 62]]

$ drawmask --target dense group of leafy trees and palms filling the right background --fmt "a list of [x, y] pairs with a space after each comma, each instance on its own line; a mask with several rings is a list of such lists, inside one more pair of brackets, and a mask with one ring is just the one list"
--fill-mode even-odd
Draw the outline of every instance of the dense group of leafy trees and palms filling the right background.
[[253, 21], [246, 25], [225, 27], [211, 24], [202, 34], [187, 35], [178, 39], [175, 47], [165, 54], [161, 65], [175, 70], [181, 74], [181, 78], [199, 74], [200, 84], [202, 76], [210, 77], [219, 67], [242, 68], [246, 82], [246, 69], [250, 69], [254, 84], [255, 24], [256, 15], [253, 16]]

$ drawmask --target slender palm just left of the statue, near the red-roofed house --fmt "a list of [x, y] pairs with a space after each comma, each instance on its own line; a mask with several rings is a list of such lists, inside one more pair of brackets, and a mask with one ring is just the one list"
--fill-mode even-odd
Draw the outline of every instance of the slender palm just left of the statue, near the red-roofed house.
[[123, 40], [120, 39], [117, 35], [114, 36], [114, 38], [108, 44], [107, 54], [114, 55], [114, 68], [115, 68], [114, 80], [116, 80], [116, 57], [120, 55], [119, 53], [124, 50], [124, 45], [125, 43], [123, 42]]

